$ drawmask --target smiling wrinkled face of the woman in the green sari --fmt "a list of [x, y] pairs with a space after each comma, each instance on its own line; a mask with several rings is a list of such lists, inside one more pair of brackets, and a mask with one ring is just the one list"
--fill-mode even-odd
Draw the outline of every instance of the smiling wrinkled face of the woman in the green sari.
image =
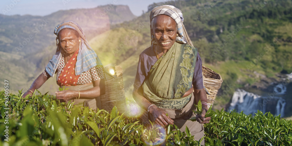
[[169, 50], [176, 40], [175, 21], [167, 15], [158, 15], [153, 20], [152, 29], [157, 45], [164, 50]]

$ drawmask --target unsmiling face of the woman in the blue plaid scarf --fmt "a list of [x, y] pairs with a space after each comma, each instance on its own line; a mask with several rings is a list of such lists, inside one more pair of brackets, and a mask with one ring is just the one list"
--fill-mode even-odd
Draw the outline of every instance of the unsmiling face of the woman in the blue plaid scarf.
[[68, 54], [74, 54], [79, 48], [79, 37], [76, 36], [74, 30], [64, 29], [59, 32], [60, 45]]

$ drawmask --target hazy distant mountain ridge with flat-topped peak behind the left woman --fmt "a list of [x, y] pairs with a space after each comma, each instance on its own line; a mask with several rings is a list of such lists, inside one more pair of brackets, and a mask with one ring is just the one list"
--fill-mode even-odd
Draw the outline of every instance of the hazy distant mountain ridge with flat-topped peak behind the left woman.
[[[56, 36], [53, 34], [55, 26], [67, 20], [77, 22], [87, 34], [86, 37], [91, 39], [109, 30], [109, 25], [135, 17], [129, 7], [124, 5], [62, 10], [44, 17], [0, 14], [0, 51], [24, 55], [43, 50], [55, 40]], [[31, 39], [27, 39], [29, 35], [32, 35]], [[19, 43], [23, 45], [23, 48]], [[15, 49], [16, 47], [20, 50]]]

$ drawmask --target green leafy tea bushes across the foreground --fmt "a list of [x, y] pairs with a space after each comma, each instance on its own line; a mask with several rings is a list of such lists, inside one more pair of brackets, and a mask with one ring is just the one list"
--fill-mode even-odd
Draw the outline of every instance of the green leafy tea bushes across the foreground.
[[[189, 130], [170, 125], [147, 128], [112, 111], [81, 109], [52, 95], [4, 96], [0, 101], [1, 145], [199, 145]], [[213, 112], [213, 111], [212, 111]], [[291, 145], [291, 120], [270, 113], [213, 112], [204, 124], [206, 145]], [[164, 132], [165, 131], [165, 132]], [[7, 133], [8, 132], [8, 135]], [[201, 139], [203, 140], [203, 139]]]

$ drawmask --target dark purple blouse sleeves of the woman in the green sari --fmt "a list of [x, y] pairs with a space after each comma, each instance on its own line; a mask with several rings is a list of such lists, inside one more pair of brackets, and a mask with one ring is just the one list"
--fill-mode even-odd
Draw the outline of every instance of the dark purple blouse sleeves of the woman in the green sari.
[[[156, 53], [152, 47], [145, 49], [139, 57], [137, 73], [134, 83], [134, 89], [138, 89], [143, 83], [145, 78], [147, 77], [150, 69], [157, 61]], [[202, 60], [198, 53], [197, 55], [197, 62], [194, 69], [194, 76], [193, 76], [193, 86], [195, 89], [202, 89], [203, 86], [203, 77], [202, 77]]]

